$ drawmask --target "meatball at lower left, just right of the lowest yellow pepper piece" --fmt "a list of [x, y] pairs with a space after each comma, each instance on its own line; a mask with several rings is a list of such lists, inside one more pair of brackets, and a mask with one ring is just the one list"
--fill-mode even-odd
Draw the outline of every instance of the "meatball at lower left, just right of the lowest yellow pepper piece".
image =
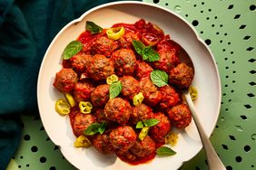
[[106, 134], [96, 135], [93, 139], [93, 146], [103, 154], [112, 154], [113, 146], [110, 143], [109, 136]]

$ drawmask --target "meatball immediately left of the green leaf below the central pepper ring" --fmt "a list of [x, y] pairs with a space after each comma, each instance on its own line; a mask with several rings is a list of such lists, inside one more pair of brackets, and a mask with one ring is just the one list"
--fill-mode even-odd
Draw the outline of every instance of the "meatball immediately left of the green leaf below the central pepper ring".
[[91, 99], [95, 107], [103, 107], [109, 100], [109, 85], [97, 86], [91, 94]]

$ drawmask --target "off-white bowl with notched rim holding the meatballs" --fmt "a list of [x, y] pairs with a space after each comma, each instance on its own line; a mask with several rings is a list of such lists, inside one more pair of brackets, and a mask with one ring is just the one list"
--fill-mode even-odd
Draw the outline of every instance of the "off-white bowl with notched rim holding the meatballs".
[[174, 156], [156, 156], [142, 165], [129, 165], [116, 156], [104, 156], [94, 147], [84, 149], [74, 147], [74, 134], [68, 117], [59, 116], [54, 110], [54, 102], [63, 97], [53, 87], [54, 76], [62, 68], [62, 52], [68, 42], [75, 40], [84, 32], [86, 21], [93, 21], [103, 28], [116, 23], [131, 23], [145, 19], [159, 25], [164, 33], [171, 35], [188, 52], [195, 67], [192, 85], [198, 90], [198, 99], [194, 102], [202, 127], [208, 137], [212, 134], [221, 105], [221, 83], [212, 52], [192, 28], [191, 24], [177, 14], [157, 5], [142, 2], [115, 2], [94, 7], [78, 19], [64, 26], [55, 36], [45, 52], [37, 84], [37, 99], [40, 116], [47, 135], [52, 139], [64, 157], [79, 169], [177, 169], [183, 162], [190, 160], [201, 149], [202, 143], [192, 121], [185, 130], [176, 130], [179, 140], [172, 149]]

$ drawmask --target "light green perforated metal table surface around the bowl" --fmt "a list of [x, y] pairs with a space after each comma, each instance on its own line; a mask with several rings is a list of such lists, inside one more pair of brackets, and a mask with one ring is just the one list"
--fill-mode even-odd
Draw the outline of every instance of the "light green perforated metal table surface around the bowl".
[[[209, 45], [222, 81], [212, 145], [231, 169], [256, 169], [256, 1], [145, 0], [190, 22]], [[211, 87], [210, 87], [211, 88]], [[39, 116], [23, 116], [21, 144], [7, 169], [75, 169], [46, 135]], [[181, 170], [207, 169], [203, 150]]]

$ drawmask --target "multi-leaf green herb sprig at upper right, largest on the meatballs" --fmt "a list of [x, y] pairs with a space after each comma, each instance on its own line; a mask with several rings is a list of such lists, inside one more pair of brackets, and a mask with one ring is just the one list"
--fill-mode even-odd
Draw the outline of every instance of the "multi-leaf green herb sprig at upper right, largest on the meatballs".
[[159, 54], [153, 50], [152, 46], [145, 46], [143, 42], [133, 40], [133, 47], [138, 54], [143, 56], [144, 61], [160, 60]]

